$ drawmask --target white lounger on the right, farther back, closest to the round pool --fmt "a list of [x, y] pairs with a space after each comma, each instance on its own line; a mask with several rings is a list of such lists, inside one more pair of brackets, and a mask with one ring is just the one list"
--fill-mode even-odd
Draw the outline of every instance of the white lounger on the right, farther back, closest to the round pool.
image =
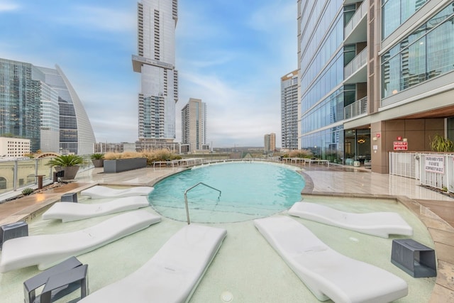
[[321, 204], [297, 202], [289, 209], [288, 214], [382, 238], [388, 238], [390, 234], [404, 236], [413, 234], [413, 228], [402, 219], [402, 216], [388, 211], [354, 214]]

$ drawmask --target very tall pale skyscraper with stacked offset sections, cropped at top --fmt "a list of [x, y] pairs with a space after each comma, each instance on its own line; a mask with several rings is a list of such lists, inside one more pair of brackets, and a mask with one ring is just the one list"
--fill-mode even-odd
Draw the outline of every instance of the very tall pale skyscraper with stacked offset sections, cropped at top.
[[[138, 3], [138, 55], [133, 70], [140, 72], [138, 94], [139, 143], [172, 145], [175, 139], [175, 70], [177, 0], [142, 0]], [[150, 145], [151, 147], [152, 145]]]

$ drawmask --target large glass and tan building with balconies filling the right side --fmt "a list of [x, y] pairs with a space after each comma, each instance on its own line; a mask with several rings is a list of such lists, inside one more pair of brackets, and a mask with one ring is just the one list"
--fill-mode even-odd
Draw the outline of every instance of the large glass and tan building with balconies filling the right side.
[[297, 3], [301, 148], [387, 173], [394, 141], [454, 138], [453, 1]]

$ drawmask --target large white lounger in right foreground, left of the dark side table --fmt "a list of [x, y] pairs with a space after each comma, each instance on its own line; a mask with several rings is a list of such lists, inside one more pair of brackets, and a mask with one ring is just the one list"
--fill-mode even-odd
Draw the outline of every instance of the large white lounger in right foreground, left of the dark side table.
[[288, 216], [255, 219], [254, 224], [321, 301], [392, 302], [408, 294], [400, 277], [338, 253]]

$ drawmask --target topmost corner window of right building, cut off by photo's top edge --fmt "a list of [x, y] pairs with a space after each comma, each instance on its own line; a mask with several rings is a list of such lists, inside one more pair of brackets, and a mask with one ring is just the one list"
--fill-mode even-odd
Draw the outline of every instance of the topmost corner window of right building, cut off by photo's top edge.
[[408, 18], [421, 9], [426, 0], [382, 1], [382, 38], [387, 38]]

